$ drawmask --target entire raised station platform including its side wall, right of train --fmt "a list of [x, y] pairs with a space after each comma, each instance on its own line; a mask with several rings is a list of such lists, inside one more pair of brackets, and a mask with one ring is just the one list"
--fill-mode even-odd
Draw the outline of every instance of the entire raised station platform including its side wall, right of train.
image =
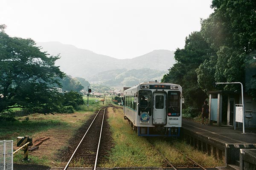
[[222, 159], [226, 165], [239, 162], [240, 149], [256, 149], [256, 133], [242, 134], [234, 127], [201, 125], [189, 119], [182, 120], [182, 134], [187, 143], [198, 150]]

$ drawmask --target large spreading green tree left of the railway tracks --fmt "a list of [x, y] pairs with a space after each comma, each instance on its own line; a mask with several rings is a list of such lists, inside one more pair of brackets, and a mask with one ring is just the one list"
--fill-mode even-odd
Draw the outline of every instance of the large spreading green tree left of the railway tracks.
[[9, 37], [0, 25], [0, 113], [10, 108], [28, 108], [38, 113], [59, 109], [59, 94], [52, 85], [63, 72], [59, 56], [41, 52], [31, 39]]

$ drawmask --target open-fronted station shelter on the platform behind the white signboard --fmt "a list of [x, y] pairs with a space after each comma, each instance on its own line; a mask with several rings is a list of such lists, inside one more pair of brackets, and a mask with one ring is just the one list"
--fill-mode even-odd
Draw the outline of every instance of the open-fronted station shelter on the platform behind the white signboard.
[[[242, 104], [241, 94], [233, 91], [208, 91], [210, 125], [242, 127], [236, 122], [236, 106]], [[256, 101], [244, 95], [244, 127], [256, 128]]]

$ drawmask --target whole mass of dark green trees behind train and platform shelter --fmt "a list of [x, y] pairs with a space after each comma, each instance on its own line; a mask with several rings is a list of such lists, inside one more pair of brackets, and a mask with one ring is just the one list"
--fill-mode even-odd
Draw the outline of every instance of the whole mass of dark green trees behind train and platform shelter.
[[201, 31], [175, 51], [177, 63], [162, 79], [183, 86], [186, 106], [200, 106], [207, 91], [239, 90], [237, 85], [216, 88], [215, 82], [242, 82], [256, 99], [255, 0], [212, 0], [212, 8], [209, 18], [201, 20]]

